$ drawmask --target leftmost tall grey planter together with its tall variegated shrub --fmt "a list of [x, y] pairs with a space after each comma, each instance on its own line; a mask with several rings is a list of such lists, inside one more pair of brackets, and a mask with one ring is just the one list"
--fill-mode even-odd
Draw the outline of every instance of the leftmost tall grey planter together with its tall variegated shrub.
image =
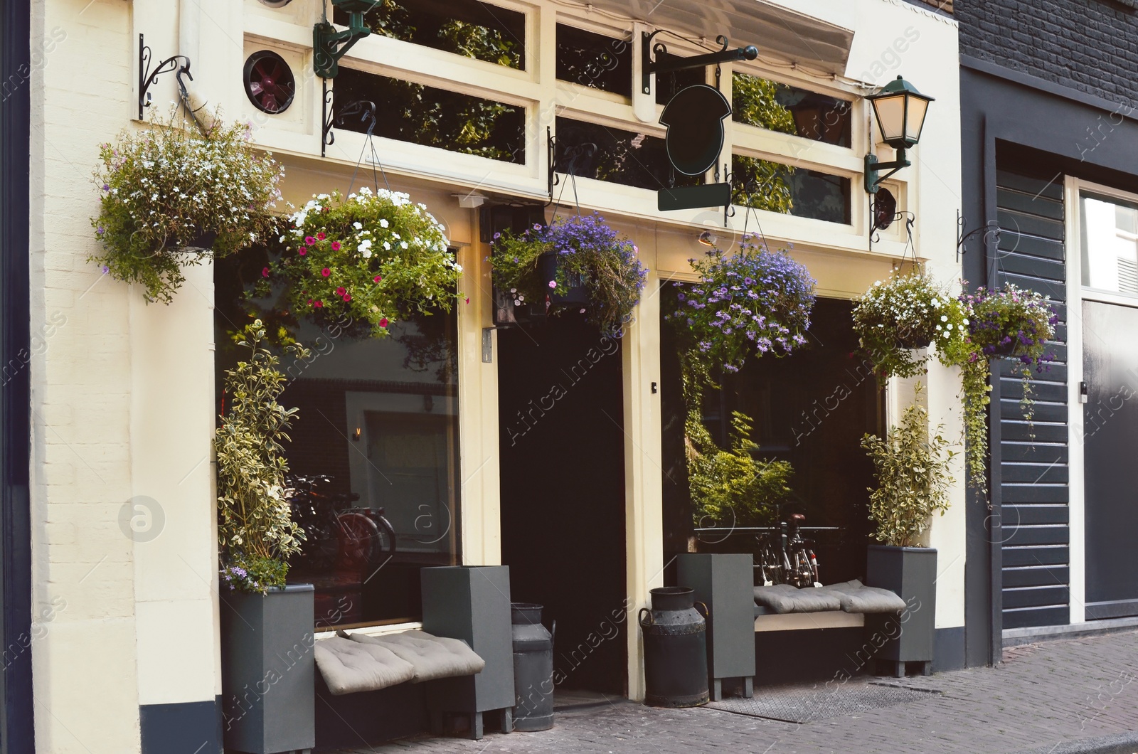
[[245, 328], [248, 358], [225, 371], [215, 436], [222, 728], [228, 749], [254, 754], [315, 746], [313, 588], [284, 583], [304, 539], [284, 497], [281, 446], [297, 410], [278, 401], [286, 377], [265, 338], [261, 320]]

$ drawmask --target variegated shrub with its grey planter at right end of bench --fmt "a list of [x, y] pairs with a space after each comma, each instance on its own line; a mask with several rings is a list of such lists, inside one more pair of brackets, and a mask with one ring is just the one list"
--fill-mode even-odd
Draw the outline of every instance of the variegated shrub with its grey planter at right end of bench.
[[[916, 388], [920, 398], [921, 386]], [[907, 662], [926, 663], [933, 657], [937, 613], [937, 550], [921, 546], [933, 514], [948, 510], [953, 483], [949, 464], [956, 453], [943, 436], [943, 426], [929, 426], [929, 411], [913, 404], [885, 437], [867, 434], [861, 439], [874, 465], [877, 487], [869, 490], [869, 518], [876, 526], [866, 557], [866, 584], [896, 592], [907, 605], [900, 633], [884, 645], [879, 659], [897, 663], [898, 673]], [[866, 615], [867, 631], [883, 631], [891, 615]], [[896, 631], [884, 631], [892, 636]]]

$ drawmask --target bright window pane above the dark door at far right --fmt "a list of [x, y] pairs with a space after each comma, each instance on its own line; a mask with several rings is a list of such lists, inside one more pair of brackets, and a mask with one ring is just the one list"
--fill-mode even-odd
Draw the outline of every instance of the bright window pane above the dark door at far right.
[[1083, 194], [1082, 285], [1138, 296], [1138, 207]]

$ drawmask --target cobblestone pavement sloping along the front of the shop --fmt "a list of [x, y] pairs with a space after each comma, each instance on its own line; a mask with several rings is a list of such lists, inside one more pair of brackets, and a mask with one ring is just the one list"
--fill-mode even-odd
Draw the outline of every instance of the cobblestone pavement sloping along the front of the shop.
[[[1127, 632], [1015, 647], [1005, 653], [999, 667], [874, 679], [940, 694], [806, 724], [613, 699], [559, 712], [556, 726], [544, 732], [487, 732], [479, 741], [421, 737], [339, 754], [1070, 751], [1061, 744], [1138, 731], [1138, 682], [1131, 682], [1136, 680], [1138, 632]], [[853, 679], [849, 687], [866, 682]], [[830, 691], [843, 692], [838, 685]]]

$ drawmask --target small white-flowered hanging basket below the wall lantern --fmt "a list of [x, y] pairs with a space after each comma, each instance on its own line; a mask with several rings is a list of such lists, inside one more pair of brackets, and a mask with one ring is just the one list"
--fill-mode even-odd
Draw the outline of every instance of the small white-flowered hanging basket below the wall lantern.
[[914, 352], [935, 344], [943, 353], [967, 326], [964, 305], [920, 270], [874, 282], [853, 308], [853, 330], [881, 379], [924, 372], [929, 354]]

